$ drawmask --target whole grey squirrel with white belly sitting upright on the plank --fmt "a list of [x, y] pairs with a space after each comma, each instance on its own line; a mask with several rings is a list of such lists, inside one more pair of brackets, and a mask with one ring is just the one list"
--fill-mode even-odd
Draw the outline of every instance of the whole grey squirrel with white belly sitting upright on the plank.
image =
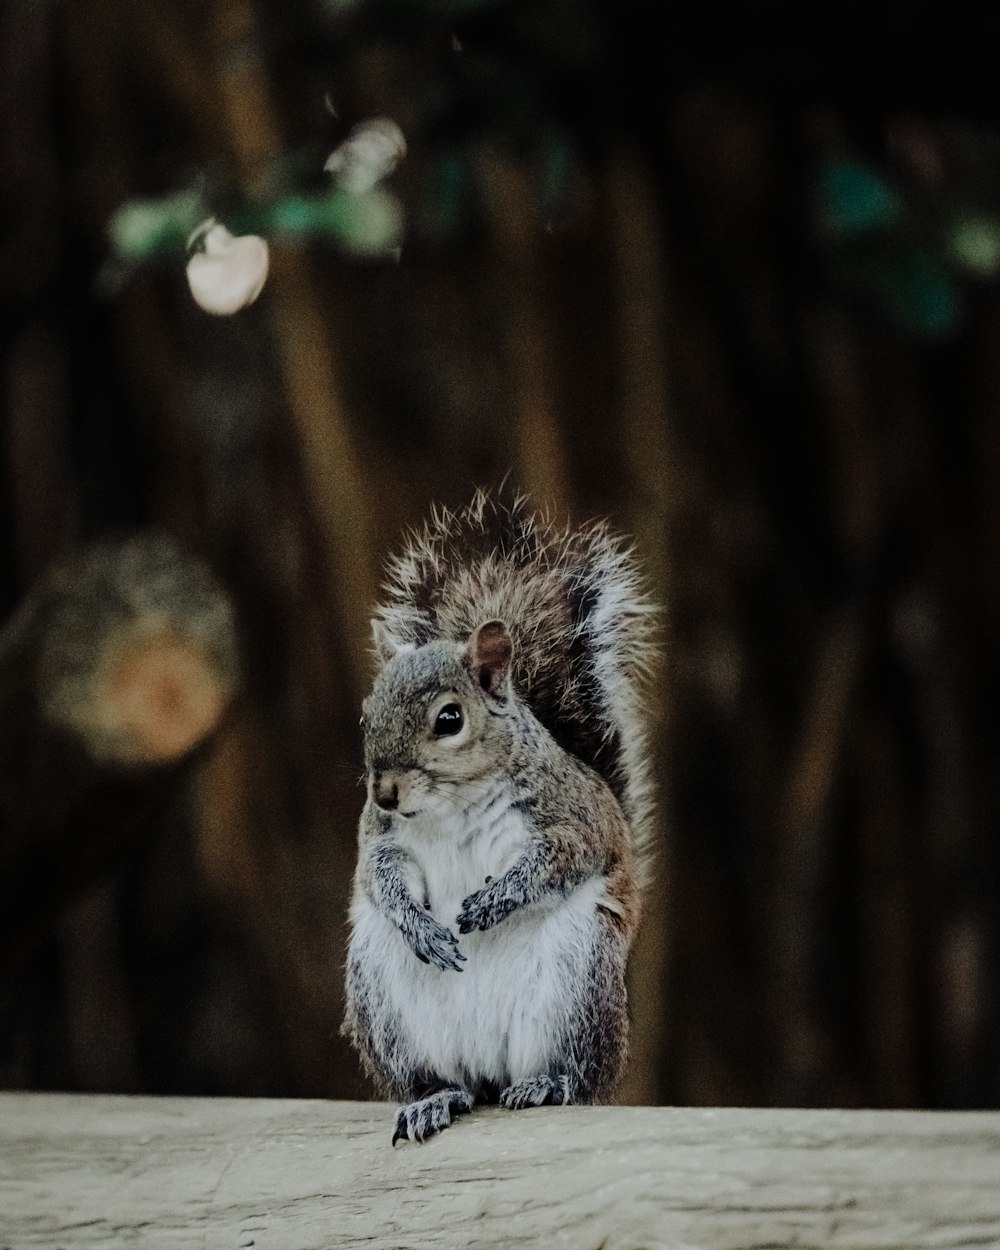
[[598, 1102], [628, 1050], [651, 859], [654, 606], [605, 522], [480, 490], [389, 564], [362, 705], [344, 1032], [402, 1102]]

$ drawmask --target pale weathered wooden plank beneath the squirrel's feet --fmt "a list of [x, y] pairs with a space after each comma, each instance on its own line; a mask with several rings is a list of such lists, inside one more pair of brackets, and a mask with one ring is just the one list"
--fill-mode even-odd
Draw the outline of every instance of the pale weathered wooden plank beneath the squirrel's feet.
[[1000, 1114], [0, 1095], [0, 1246], [1000, 1246]]

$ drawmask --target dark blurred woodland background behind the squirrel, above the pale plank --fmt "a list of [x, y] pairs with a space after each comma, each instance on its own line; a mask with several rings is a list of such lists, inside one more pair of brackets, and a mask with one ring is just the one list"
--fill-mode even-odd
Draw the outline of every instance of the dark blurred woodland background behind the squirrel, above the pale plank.
[[0, 10], [0, 1086], [368, 1096], [368, 620], [506, 479], [665, 609], [622, 1098], [1000, 1105], [999, 22], [654, 8]]

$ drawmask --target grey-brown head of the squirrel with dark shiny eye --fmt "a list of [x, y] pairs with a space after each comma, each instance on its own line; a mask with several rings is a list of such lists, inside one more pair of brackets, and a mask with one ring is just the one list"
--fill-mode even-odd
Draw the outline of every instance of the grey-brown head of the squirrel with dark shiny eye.
[[510, 756], [510, 632], [491, 620], [464, 642], [394, 646], [380, 621], [372, 630], [382, 669], [362, 708], [369, 800], [404, 818], [454, 811]]

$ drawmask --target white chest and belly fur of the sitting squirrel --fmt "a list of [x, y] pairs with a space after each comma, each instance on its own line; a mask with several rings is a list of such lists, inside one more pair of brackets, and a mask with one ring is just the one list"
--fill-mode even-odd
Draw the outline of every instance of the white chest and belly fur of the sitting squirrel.
[[[475, 819], [470, 820], [469, 815]], [[416, 818], [400, 831], [418, 904], [458, 934], [462, 900], [525, 849], [531, 830], [505, 795], [464, 819]], [[391, 921], [355, 900], [352, 949], [419, 1068], [459, 1084], [512, 1084], [558, 1069], [586, 981], [604, 879], [552, 892], [486, 932], [460, 938], [462, 971], [421, 964]]]

